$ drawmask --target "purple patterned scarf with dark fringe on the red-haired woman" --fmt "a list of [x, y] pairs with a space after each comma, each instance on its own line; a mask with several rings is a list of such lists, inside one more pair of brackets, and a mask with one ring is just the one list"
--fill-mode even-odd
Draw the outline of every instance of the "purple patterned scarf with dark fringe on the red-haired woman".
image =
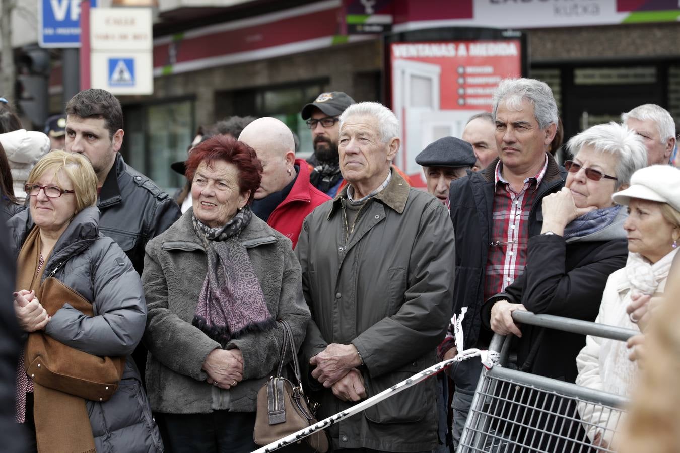
[[267, 330], [276, 321], [239, 234], [252, 219], [245, 206], [221, 228], [209, 228], [192, 217], [208, 259], [208, 272], [196, 306], [193, 325], [222, 347], [250, 331]]

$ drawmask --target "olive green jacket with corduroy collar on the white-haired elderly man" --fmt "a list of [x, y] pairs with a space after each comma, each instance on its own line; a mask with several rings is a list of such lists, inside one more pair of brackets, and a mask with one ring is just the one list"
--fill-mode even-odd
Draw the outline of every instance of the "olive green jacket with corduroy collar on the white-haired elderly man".
[[[452, 315], [454, 230], [445, 206], [392, 173], [347, 228], [342, 200], [314, 210], [296, 253], [312, 314], [301, 364], [327, 344], [354, 344], [369, 397], [436, 363]], [[308, 376], [322, 419], [349, 407]], [[335, 448], [423, 452], [437, 447], [435, 380], [428, 379], [328, 429]]]

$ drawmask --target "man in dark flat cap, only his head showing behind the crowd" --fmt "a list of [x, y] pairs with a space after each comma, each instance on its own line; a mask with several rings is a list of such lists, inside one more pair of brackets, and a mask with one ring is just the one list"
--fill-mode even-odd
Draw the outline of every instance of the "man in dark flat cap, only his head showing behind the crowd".
[[444, 137], [420, 151], [415, 162], [423, 167], [428, 193], [446, 204], [451, 181], [466, 176], [477, 158], [470, 143], [456, 137]]

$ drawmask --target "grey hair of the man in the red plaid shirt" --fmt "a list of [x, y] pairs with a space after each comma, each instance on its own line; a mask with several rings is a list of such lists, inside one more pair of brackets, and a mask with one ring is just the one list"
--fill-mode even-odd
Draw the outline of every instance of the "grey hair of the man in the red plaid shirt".
[[534, 106], [534, 117], [541, 129], [550, 124], [558, 124], [557, 103], [552, 90], [544, 82], [537, 79], [503, 79], [494, 91], [494, 122], [498, 105], [505, 103], [509, 109], [519, 110], [523, 100]]

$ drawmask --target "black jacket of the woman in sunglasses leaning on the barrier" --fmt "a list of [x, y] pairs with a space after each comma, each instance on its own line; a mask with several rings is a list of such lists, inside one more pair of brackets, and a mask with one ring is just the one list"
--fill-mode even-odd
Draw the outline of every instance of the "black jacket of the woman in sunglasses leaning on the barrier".
[[[483, 325], [490, 329], [491, 309], [500, 300], [524, 304], [534, 313], [595, 321], [609, 275], [626, 265], [626, 217], [621, 209], [611, 225], [588, 236], [564, 240], [557, 234], [540, 234], [530, 238], [524, 273], [485, 302]], [[585, 346], [584, 335], [530, 325], [520, 330], [522, 338], [513, 338], [517, 367], [575, 382], [576, 356]]]

